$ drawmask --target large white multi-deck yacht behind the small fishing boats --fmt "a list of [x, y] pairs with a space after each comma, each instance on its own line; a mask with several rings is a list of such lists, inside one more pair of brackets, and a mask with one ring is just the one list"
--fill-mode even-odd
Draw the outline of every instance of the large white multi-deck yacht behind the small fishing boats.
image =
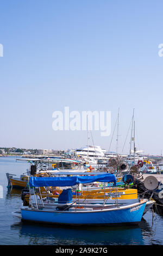
[[99, 160], [103, 160], [105, 158], [104, 149], [101, 149], [100, 146], [90, 145], [76, 149], [76, 154], [89, 164], [97, 164]]

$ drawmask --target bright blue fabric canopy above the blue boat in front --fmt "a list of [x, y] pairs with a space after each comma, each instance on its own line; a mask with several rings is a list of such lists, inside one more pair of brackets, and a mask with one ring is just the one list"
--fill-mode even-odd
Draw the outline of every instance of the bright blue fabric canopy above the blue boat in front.
[[71, 177], [30, 177], [30, 187], [65, 187], [74, 186], [79, 183], [92, 183], [92, 182], [114, 182], [116, 186], [116, 177], [114, 174], [103, 174], [93, 176], [71, 176]]

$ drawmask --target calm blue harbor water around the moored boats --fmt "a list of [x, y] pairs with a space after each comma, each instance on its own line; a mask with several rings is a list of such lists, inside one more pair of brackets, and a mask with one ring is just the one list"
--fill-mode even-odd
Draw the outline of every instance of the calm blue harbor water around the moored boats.
[[[61, 227], [22, 223], [12, 212], [21, 207], [21, 190], [8, 190], [5, 173], [20, 176], [29, 163], [0, 157], [0, 245], [162, 245], [163, 214], [152, 210], [139, 225], [128, 227]], [[162, 207], [163, 208], [163, 207]], [[159, 209], [158, 209], [159, 210]]]

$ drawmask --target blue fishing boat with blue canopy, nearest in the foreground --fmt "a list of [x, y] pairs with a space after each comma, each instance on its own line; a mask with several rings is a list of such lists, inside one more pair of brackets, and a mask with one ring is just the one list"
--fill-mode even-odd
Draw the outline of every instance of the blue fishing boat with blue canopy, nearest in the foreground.
[[[95, 175], [95, 176], [71, 176], [71, 177], [31, 177], [29, 181], [30, 187], [42, 186], [74, 186], [79, 183], [90, 182], [114, 182], [116, 185], [116, 178], [113, 174]], [[33, 190], [34, 191], [34, 190]], [[34, 194], [34, 197], [37, 196]], [[63, 199], [62, 199], [63, 200]], [[40, 208], [37, 205], [34, 207], [22, 206], [21, 218], [22, 221], [32, 221], [41, 223], [53, 224], [68, 224], [68, 225], [126, 225], [137, 224], [141, 221], [143, 212], [146, 206], [146, 200], [129, 205], [104, 205], [99, 208], [87, 208], [86, 206], [75, 205], [70, 203], [71, 197], [68, 199], [69, 204], [55, 206], [54, 209]], [[65, 203], [67, 202], [65, 199]], [[105, 202], [104, 202], [105, 203]], [[16, 212], [15, 212], [16, 215]], [[18, 213], [17, 213], [18, 215]]]

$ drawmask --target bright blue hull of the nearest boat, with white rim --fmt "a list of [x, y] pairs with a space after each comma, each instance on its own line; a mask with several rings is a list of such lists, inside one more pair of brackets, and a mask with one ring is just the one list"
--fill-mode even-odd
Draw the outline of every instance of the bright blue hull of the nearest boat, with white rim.
[[21, 209], [22, 221], [68, 225], [126, 225], [141, 221], [146, 202], [93, 211]]

